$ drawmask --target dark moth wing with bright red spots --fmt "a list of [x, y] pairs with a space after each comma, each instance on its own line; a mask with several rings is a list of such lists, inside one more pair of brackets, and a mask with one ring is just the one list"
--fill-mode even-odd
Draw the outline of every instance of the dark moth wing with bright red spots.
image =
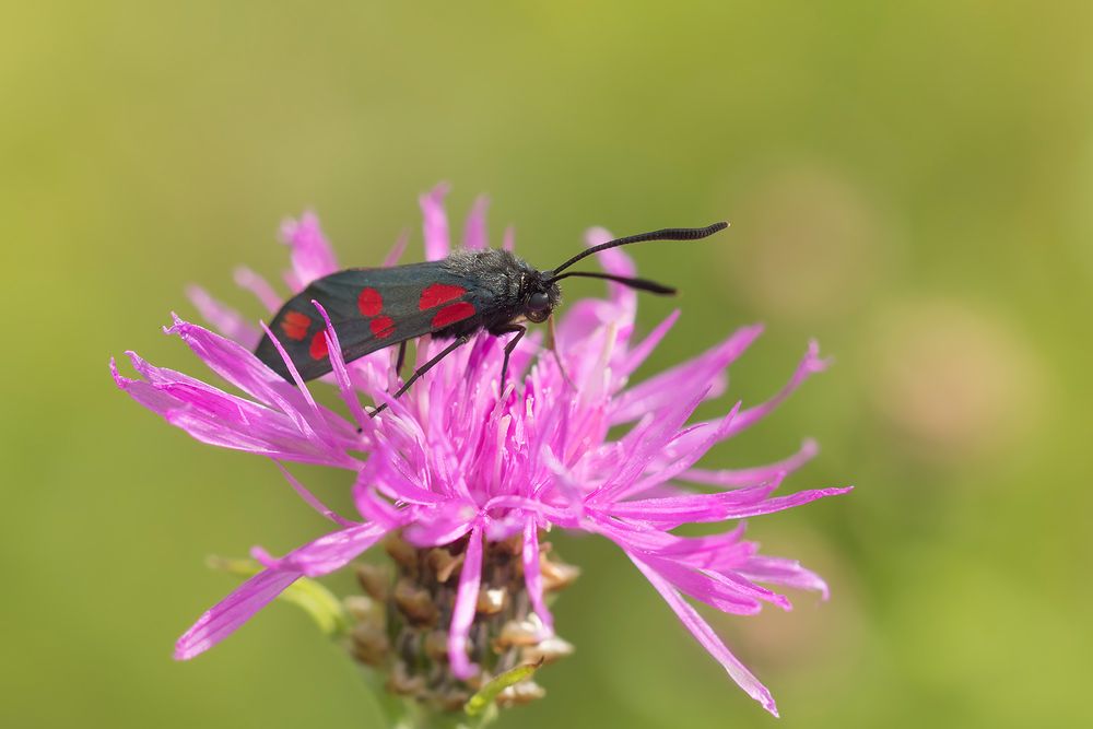
[[[285, 302], [270, 324], [270, 331], [304, 380], [321, 377], [332, 369], [326, 322], [313, 299], [330, 317], [342, 358], [352, 362], [475, 316], [483, 303], [483, 292], [473, 282], [447, 271], [444, 261], [349, 269], [317, 279]], [[255, 354], [292, 381], [281, 353], [268, 334], [262, 337]]]

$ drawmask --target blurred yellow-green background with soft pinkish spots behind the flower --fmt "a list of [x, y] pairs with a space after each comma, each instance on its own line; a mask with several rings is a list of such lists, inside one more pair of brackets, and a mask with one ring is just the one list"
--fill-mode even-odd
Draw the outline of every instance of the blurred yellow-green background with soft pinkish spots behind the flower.
[[[645, 374], [756, 320], [732, 397], [769, 395], [809, 337], [836, 358], [708, 460], [813, 435], [790, 485], [858, 486], [751, 525], [830, 602], [716, 621], [781, 726], [1093, 722], [1093, 4], [5, 4], [3, 726], [379, 726], [292, 608], [171, 660], [233, 585], [207, 554], [326, 526], [107, 361], [200, 373], [158, 329], [196, 317], [184, 286], [257, 315], [231, 271], [275, 277], [305, 207], [343, 262], [403, 230], [420, 257], [416, 196], [442, 179], [456, 226], [487, 192], [494, 244], [512, 223], [543, 266], [590, 225], [731, 220], [633, 251], [684, 291]], [[643, 324], [673, 305], [646, 298]], [[585, 568], [556, 607], [578, 651], [502, 726], [774, 726], [620, 553], [555, 541]]]

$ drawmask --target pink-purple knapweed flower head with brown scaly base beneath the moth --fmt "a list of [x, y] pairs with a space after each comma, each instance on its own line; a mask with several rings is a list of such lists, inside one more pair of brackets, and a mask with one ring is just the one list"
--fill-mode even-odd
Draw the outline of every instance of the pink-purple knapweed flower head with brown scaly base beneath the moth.
[[[444, 193], [442, 187], [422, 198], [431, 260], [449, 251]], [[484, 247], [484, 231], [480, 203], [467, 222], [463, 245]], [[338, 268], [313, 215], [287, 223], [283, 234], [293, 263], [285, 279], [294, 292]], [[588, 244], [609, 238], [596, 230]], [[505, 245], [512, 245], [510, 235]], [[393, 264], [398, 249], [386, 264]], [[610, 273], [635, 274], [621, 250], [602, 251], [599, 260]], [[280, 305], [281, 297], [256, 274], [242, 271], [237, 280], [269, 311]], [[208, 650], [295, 580], [340, 569], [386, 538], [397, 564], [393, 585], [376, 586], [368, 571], [362, 581], [393, 613], [373, 621], [371, 633], [356, 635], [355, 655], [387, 666], [389, 686], [422, 699], [435, 702], [438, 686], [448, 695], [460, 686], [473, 690], [514, 662], [534, 658], [537, 648], [564, 652], [559, 648], [564, 644], [551, 643], [556, 639], [544, 593], [572, 578], [572, 571], [548, 560], [540, 543], [546, 531], [562, 528], [614, 542], [729, 675], [776, 714], [769, 692], [691, 600], [753, 614], [764, 602], [790, 608], [786, 597], [765, 586], [826, 597], [823, 580], [796, 561], [760, 555], [756, 544], [743, 539], [742, 520], [848, 489], [775, 495], [785, 477], [813, 456], [811, 442], [780, 462], [756, 468], [707, 470], [698, 461], [821, 371], [815, 344], [766, 402], [737, 403], [724, 416], [695, 422], [700, 403], [725, 392], [727, 367], [759, 337], [759, 327], [740, 329], [633, 385], [631, 375], [668, 334], [679, 311], [639, 339], [637, 295], [611, 283], [606, 297], [564, 308], [557, 357], [544, 353], [540, 336], [527, 337], [513, 353], [503, 389], [502, 345], [480, 334], [396, 400], [389, 395], [399, 384], [392, 350], [345, 364], [328, 320], [333, 372], [326, 379], [344, 401], [340, 414], [251, 354], [258, 327], [203, 291], [192, 291], [191, 298], [221, 334], [177, 317], [166, 332], [180, 337], [242, 396], [156, 367], [134, 353], [129, 356], [137, 379], [121, 376], [111, 363], [118, 386], [199, 440], [273, 459], [336, 528], [282, 557], [256, 549], [265, 569], [202, 615], [178, 640], [176, 658]], [[418, 361], [440, 346], [420, 340]], [[361, 396], [387, 403], [388, 410], [368, 418]], [[287, 471], [290, 461], [349, 471], [359, 517], [327, 508]], [[712, 522], [728, 526], [712, 536], [674, 533], [684, 525]]]

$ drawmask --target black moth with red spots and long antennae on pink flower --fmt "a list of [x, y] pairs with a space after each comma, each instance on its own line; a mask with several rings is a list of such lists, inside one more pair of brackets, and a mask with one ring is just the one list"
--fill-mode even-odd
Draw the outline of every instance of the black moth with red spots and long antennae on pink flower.
[[[281, 307], [269, 331], [284, 355], [262, 337], [255, 352], [258, 358], [290, 383], [292, 374], [285, 356], [304, 380], [321, 377], [332, 369], [327, 344], [326, 321], [317, 302], [326, 310], [341, 345], [342, 358], [352, 362], [371, 352], [400, 345], [397, 368], [401, 368], [407, 342], [432, 334], [453, 340], [448, 346], [419, 367], [395, 393], [398, 398], [472, 334], [485, 329], [494, 337], [514, 334], [505, 344], [502, 386], [508, 357], [527, 331], [524, 321], [545, 321], [562, 298], [557, 282], [569, 277], [608, 279], [618, 283], [670, 295], [675, 290], [647, 279], [631, 279], [598, 271], [569, 271], [580, 259], [600, 250], [645, 240], [695, 240], [728, 227], [714, 223], [698, 228], [665, 228], [609, 240], [584, 250], [554, 269], [540, 271], [508, 250], [459, 250], [445, 259], [392, 268], [348, 269], [313, 281]], [[384, 409], [380, 405], [373, 415]]]

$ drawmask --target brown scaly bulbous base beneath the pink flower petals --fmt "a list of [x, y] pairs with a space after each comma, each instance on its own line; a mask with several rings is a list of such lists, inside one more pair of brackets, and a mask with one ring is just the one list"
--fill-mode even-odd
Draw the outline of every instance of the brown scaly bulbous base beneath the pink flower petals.
[[[381, 670], [391, 693], [443, 710], [460, 710], [491, 679], [517, 666], [553, 662], [573, 651], [551, 635], [532, 611], [520, 560], [519, 537], [486, 542], [482, 580], [470, 630], [469, 657], [479, 673], [463, 681], [448, 667], [448, 630], [459, 586], [467, 538], [438, 548], [418, 549], [399, 536], [385, 542], [389, 566], [359, 564], [365, 596], [346, 600], [356, 621], [349, 650], [361, 663]], [[578, 569], [550, 556], [540, 544], [539, 568], [546, 595], [576, 579]], [[531, 679], [505, 689], [502, 706], [544, 695]]]

